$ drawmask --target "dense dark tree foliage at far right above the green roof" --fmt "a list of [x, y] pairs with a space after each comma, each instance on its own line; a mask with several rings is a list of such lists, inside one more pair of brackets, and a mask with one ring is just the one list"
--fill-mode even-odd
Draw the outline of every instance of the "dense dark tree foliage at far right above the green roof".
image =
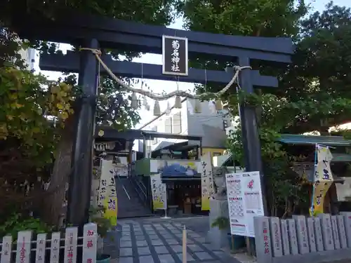
[[326, 6], [301, 22], [293, 65], [276, 95], [295, 103], [284, 132], [303, 133], [350, 122], [350, 8]]

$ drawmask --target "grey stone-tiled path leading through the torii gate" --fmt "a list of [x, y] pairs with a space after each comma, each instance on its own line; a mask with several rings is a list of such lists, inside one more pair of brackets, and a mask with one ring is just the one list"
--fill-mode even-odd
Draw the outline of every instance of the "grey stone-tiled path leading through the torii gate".
[[[119, 263], [182, 262], [181, 222], [140, 220], [119, 224], [121, 224]], [[203, 233], [199, 234], [191, 228], [187, 231], [187, 262], [239, 263], [222, 250], [212, 250], [211, 244], [206, 243], [204, 235], [201, 235]]]

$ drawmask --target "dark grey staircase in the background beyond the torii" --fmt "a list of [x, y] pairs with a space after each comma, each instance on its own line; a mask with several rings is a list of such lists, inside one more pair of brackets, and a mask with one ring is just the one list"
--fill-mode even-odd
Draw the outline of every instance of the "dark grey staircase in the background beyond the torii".
[[117, 218], [148, 217], [151, 210], [140, 198], [130, 177], [116, 177], [118, 213]]

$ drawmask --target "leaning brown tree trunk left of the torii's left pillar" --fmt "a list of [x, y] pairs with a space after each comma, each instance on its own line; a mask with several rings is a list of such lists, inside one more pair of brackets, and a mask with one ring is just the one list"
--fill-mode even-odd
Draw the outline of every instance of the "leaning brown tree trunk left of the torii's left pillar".
[[50, 185], [47, 191], [53, 191], [46, 200], [44, 200], [44, 220], [46, 223], [60, 226], [60, 219], [65, 216], [65, 210], [62, 204], [65, 201], [66, 184], [71, 172], [72, 148], [74, 142], [74, 116], [70, 116], [65, 122], [65, 128], [62, 131], [61, 140], [58, 144], [53, 173], [51, 175]]

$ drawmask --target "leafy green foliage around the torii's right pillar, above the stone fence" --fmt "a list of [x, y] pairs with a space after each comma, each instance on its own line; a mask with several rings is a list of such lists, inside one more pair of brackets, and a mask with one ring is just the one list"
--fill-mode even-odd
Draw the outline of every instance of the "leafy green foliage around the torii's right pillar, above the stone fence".
[[[291, 112], [295, 111], [294, 105], [282, 100], [276, 95], [247, 95], [239, 93], [230, 97], [230, 104], [237, 102], [246, 103], [252, 107], [260, 107], [259, 136], [263, 171], [266, 184], [266, 198], [271, 215], [286, 217], [296, 208], [308, 209], [306, 178], [299, 177], [291, 170], [296, 161], [304, 161], [306, 156], [290, 156], [282, 143], [277, 142], [280, 130], [284, 128]], [[237, 112], [232, 109], [233, 114]], [[237, 129], [232, 131], [228, 138], [228, 147], [236, 161], [244, 166], [244, 152], [241, 137], [241, 126], [237, 122]]]

